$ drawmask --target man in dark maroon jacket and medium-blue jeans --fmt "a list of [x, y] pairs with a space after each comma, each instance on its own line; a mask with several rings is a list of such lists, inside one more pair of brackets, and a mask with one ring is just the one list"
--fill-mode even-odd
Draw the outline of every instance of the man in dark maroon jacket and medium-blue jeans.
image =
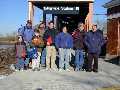
[[79, 23], [78, 28], [72, 34], [74, 39], [74, 49], [75, 49], [75, 71], [82, 69], [84, 64], [84, 24]]

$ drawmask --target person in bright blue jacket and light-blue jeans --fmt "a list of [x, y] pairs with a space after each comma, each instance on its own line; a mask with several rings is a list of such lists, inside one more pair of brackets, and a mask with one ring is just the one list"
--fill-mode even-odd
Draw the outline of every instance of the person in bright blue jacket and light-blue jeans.
[[64, 26], [62, 29], [63, 32], [56, 36], [56, 47], [59, 50], [59, 71], [64, 69], [69, 70], [69, 53], [70, 49], [73, 48], [73, 38], [67, 33], [67, 27]]

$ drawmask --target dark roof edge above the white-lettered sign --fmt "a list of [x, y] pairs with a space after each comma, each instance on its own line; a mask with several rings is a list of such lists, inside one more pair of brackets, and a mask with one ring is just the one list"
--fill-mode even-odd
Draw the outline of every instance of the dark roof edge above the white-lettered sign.
[[44, 6], [88, 6], [90, 2], [94, 0], [28, 0], [32, 2], [38, 8], [43, 8]]

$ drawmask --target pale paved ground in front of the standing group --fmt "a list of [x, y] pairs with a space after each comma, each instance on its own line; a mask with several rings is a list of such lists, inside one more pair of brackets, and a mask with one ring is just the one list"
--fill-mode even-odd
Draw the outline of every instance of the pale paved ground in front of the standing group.
[[120, 67], [99, 61], [99, 73], [93, 72], [14, 72], [0, 79], [0, 90], [96, 90], [120, 86]]

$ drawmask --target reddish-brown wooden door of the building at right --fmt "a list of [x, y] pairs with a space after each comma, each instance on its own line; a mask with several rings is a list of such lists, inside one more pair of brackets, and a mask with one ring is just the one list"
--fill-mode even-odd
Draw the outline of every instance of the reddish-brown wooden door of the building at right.
[[118, 20], [111, 19], [107, 23], [107, 53], [110, 55], [117, 55], [118, 51]]

